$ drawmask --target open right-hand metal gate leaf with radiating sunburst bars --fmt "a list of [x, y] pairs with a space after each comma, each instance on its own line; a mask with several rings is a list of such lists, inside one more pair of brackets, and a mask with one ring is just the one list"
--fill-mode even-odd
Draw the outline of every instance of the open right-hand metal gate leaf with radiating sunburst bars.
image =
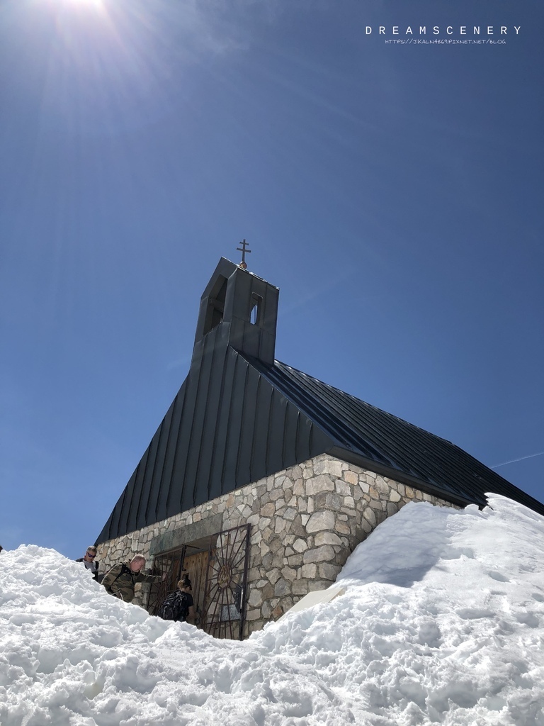
[[214, 637], [244, 637], [250, 529], [226, 529], [210, 548], [201, 627]]

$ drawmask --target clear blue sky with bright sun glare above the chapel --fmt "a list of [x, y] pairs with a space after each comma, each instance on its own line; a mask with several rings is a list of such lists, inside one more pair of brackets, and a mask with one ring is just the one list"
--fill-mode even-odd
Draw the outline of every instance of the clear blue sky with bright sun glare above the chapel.
[[[513, 462], [542, 501], [543, 20], [536, 0], [3, 0], [0, 544], [94, 541], [242, 237], [281, 290], [278, 359]], [[385, 42], [405, 38], [506, 44]]]

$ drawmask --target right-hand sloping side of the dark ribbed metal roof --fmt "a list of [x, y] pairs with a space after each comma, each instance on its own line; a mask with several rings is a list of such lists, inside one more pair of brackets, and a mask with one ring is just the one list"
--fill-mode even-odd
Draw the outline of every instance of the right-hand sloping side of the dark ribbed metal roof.
[[285, 363], [252, 365], [334, 441], [334, 453], [453, 502], [502, 494], [544, 515], [544, 505], [463, 449]]

